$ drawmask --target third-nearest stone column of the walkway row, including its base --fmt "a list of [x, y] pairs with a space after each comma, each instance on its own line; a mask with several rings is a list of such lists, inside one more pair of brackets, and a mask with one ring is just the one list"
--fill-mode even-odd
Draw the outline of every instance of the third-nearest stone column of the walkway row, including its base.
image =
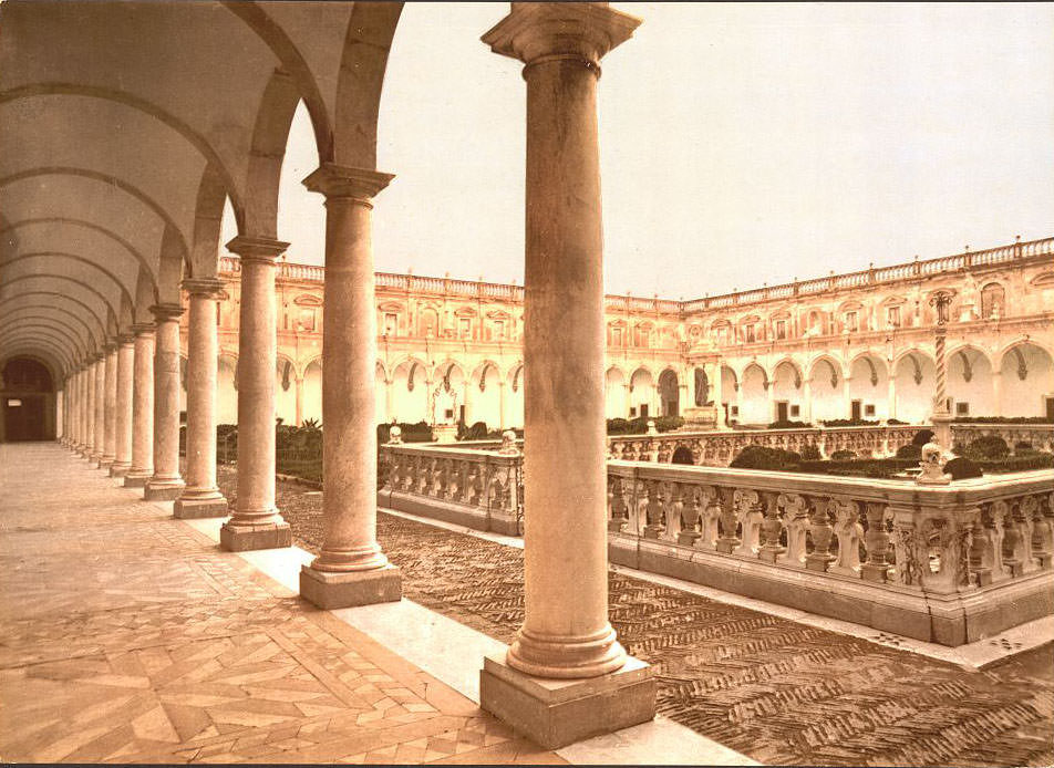
[[275, 506], [275, 311], [277, 259], [288, 242], [238, 236], [227, 250], [241, 257], [238, 328], [238, 500], [219, 531], [224, 549], [289, 547], [292, 533]]

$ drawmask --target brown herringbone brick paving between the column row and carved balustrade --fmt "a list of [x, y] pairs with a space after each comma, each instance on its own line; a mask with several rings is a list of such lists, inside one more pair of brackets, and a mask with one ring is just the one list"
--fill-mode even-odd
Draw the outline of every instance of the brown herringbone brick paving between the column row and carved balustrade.
[[[229, 485], [229, 477], [223, 481]], [[298, 543], [320, 497], [279, 484]], [[379, 515], [404, 594], [503, 642], [523, 622], [523, 553]], [[1054, 764], [1054, 648], [985, 672], [611, 573], [611, 622], [655, 665], [659, 710], [755, 760], [830, 766]]]

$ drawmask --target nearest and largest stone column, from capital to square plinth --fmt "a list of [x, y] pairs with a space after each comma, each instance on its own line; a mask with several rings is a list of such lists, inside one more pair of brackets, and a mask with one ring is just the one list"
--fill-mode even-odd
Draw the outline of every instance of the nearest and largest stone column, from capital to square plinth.
[[527, 480], [524, 625], [485, 660], [480, 706], [547, 748], [654, 715], [651, 670], [608, 622], [597, 135], [599, 60], [639, 23], [606, 3], [517, 2], [483, 38], [526, 64]]

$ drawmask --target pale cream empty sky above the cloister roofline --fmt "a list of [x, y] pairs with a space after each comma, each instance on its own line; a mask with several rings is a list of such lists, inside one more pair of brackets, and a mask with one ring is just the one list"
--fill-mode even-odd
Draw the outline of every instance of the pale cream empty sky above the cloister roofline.
[[[643, 22], [601, 62], [609, 292], [692, 299], [1054, 235], [1054, 4], [612, 7]], [[479, 41], [507, 12], [403, 10], [379, 271], [523, 284], [526, 85]], [[323, 260], [322, 198], [300, 183], [317, 166], [301, 105], [290, 261]]]

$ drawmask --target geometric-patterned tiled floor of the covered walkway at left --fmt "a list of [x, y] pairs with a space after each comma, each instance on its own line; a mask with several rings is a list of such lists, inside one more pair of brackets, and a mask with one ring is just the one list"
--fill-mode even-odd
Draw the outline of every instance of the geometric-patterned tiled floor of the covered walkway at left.
[[53, 444], [0, 445], [0, 760], [564, 762]]

